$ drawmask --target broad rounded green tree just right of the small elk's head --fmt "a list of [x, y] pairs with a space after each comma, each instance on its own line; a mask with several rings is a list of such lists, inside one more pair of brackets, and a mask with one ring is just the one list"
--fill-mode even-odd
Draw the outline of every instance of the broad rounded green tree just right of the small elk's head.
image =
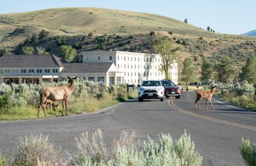
[[221, 57], [220, 61], [215, 64], [217, 81], [223, 83], [231, 82], [236, 73], [234, 66], [235, 61], [232, 58]]

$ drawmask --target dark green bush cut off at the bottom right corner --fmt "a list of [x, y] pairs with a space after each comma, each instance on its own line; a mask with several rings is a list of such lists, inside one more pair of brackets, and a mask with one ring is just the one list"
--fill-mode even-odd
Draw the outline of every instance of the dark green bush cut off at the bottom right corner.
[[242, 144], [239, 147], [244, 163], [249, 166], [256, 165], [256, 144], [251, 144], [250, 140], [242, 139]]

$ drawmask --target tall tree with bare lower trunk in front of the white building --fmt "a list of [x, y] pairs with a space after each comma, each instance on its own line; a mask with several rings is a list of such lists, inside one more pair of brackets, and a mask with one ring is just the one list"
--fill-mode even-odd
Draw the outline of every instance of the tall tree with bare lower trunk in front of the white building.
[[178, 51], [181, 51], [181, 47], [174, 47], [173, 46], [173, 40], [169, 37], [158, 37], [153, 42], [153, 48], [161, 54], [162, 57], [162, 70], [165, 72], [165, 78], [170, 78], [169, 69], [171, 67], [171, 64], [173, 64], [174, 60], [177, 60], [178, 58]]

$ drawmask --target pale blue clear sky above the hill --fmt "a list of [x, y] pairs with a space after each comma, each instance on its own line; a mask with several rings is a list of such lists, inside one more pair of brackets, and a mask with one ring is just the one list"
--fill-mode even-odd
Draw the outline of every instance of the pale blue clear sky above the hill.
[[[1, 2], [2, 1], [2, 2]], [[243, 34], [256, 30], [255, 0], [0, 0], [0, 14], [58, 7], [100, 7], [165, 15], [202, 29]]]

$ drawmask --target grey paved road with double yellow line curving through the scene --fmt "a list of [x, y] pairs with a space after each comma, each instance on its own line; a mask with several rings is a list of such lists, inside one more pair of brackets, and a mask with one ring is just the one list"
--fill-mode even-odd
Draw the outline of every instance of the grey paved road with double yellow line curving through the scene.
[[129, 100], [100, 113], [38, 120], [0, 122], [0, 151], [16, 153], [21, 136], [43, 133], [54, 140], [63, 152], [75, 153], [75, 137], [100, 128], [108, 147], [121, 131], [136, 131], [141, 140], [147, 135], [157, 140], [158, 134], [170, 133], [178, 139], [184, 129], [190, 133], [203, 165], [244, 165], [239, 153], [241, 138], [256, 142], [256, 114], [213, 100], [215, 110], [194, 110], [194, 92], [181, 99], [161, 102]]

